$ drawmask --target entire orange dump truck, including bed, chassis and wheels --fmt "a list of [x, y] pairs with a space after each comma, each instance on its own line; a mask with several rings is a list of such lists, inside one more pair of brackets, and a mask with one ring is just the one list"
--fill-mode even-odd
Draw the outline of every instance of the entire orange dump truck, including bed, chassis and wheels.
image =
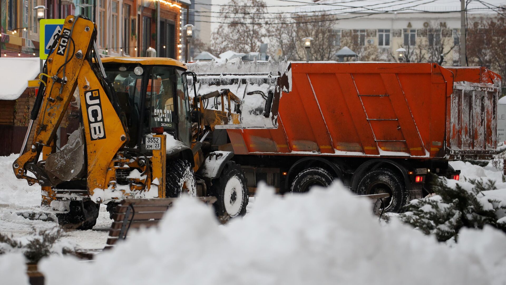
[[358, 194], [387, 192], [397, 211], [424, 195], [429, 172], [458, 179], [456, 159], [496, 152], [500, 77], [434, 63], [292, 63], [277, 129], [229, 129], [254, 190], [305, 192], [339, 179]]

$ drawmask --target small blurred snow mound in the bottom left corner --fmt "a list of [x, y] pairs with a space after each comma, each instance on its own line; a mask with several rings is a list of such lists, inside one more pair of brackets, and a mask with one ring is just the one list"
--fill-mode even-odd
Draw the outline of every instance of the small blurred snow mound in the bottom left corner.
[[2, 278], [2, 284], [28, 285], [28, 275], [26, 275], [26, 264], [23, 255], [0, 255], [0, 278]]

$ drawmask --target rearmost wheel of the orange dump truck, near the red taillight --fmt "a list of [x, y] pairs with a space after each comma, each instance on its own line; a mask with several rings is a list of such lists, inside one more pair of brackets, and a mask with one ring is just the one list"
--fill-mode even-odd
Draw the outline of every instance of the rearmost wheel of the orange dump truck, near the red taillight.
[[390, 197], [383, 199], [380, 206], [385, 212], [399, 212], [406, 201], [406, 191], [401, 177], [388, 168], [377, 168], [367, 172], [360, 182], [356, 193], [370, 195], [389, 193]]

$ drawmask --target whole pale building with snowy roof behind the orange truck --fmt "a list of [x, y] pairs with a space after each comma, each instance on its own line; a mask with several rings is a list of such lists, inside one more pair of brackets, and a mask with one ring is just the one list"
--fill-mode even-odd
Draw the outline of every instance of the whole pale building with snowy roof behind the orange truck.
[[[423, 46], [429, 50], [428, 47], [440, 45], [444, 53], [448, 52], [444, 64], [458, 65], [460, 0], [394, 2], [319, 0], [315, 2], [317, 5], [298, 8], [298, 12], [325, 11], [336, 16], [339, 20], [335, 23], [335, 44], [339, 46], [345, 37], [353, 37], [359, 47], [377, 46], [382, 59], [392, 60], [392, 55], [398, 56], [395, 50], [400, 47], [409, 46], [413, 50]], [[488, 0], [488, 3], [504, 4], [500, 0]], [[469, 18], [486, 17], [493, 12], [479, 2], [469, 3], [467, 9]], [[438, 52], [432, 53], [433, 60], [438, 58]]]

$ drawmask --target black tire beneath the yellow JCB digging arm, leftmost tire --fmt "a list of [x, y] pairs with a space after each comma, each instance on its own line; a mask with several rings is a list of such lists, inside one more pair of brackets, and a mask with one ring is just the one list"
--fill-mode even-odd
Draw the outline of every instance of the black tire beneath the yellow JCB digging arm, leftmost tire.
[[58, 224], [65, 229], [91, 230], [97, 223], [100, 204], [93, 201], [70, 201], [68, 213], [57, 213]]

